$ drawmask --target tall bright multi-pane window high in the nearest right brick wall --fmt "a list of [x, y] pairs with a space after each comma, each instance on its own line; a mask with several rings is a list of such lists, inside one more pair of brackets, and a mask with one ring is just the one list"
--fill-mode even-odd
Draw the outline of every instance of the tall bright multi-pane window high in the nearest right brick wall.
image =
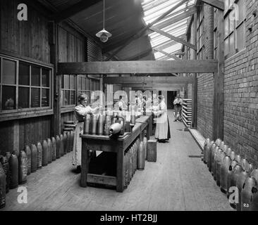
[[245, 0], [225, 1], [225, 56], [245, 49], [245, 17]]

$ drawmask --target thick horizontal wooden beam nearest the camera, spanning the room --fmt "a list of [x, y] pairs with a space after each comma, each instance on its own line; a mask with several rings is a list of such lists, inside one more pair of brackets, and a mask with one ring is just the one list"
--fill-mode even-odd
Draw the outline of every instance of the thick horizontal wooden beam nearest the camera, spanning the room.
[[217, 60], [141, 60], [59, 63], [59, 75], [113, 75], [132, 73], [217, 72]]

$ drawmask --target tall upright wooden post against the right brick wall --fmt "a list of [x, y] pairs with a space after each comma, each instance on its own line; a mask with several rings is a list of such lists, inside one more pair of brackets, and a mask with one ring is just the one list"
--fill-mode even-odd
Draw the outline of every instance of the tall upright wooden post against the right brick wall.
[[218, 72], [214, 72], [214, 113], [213, 139], [223, 140], [224, 112], [224, 20], [223, 11], [219, 10], [218, 25]]

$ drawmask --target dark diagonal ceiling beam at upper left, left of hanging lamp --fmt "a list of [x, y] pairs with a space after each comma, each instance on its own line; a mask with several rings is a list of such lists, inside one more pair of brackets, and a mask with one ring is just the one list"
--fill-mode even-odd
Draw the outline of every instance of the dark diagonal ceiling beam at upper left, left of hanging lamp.
[[61, 20], [66, 20], [67, 18], [70, 18], [71, 16], [80, 13], [80, 11], [85, 10], [85, 8], [89, 8], [90, 6], [93, 6], [94, 4], [99, 3], [102, 0], [87, 0], [87, 1], [79, 1], [77, 4], [70, 6], [69, 8], [56, 13], [53, 16], [53, 19], [56, 21], [56, 23], [61, 22]]

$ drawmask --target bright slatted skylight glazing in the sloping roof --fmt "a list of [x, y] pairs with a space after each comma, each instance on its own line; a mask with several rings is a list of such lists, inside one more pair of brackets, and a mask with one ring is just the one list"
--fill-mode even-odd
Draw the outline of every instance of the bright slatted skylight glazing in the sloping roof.
[[[166, 13], [168, 10], [176, 6], [182, 0], [145, 0], [142, 2], [142, 8], [144, 11], [144, 20], [146, 25], [152, 23], [159, 16]], [[196, 0], [188, 0], [174, 11], [166, 15], [162, 20], [159, 20], [153, 25], [153, 27], [171, 34], [175, 37], [183, 38], [188, 27], [188, 18], [180, 20], [176, 23], [170, 23], [170, 20], [178, 15], [181, 15], [185, 11], [188, 11], [195, 5]], [[165, 37], [157, 32], [150, 32], [149, 39], [152, 44], [152, 49], [156, 50], [154, 53], [156, 60], [173, 60], [169, 54], [176, 53], [182, 48], [182, 44], [173, 41], [172, 39]], [[157, 50], [158, 49], [158, 50]], [[162, 53], [163, 51], [163, 53]], [[166, 55], [165, 55], [166, 53]]]

